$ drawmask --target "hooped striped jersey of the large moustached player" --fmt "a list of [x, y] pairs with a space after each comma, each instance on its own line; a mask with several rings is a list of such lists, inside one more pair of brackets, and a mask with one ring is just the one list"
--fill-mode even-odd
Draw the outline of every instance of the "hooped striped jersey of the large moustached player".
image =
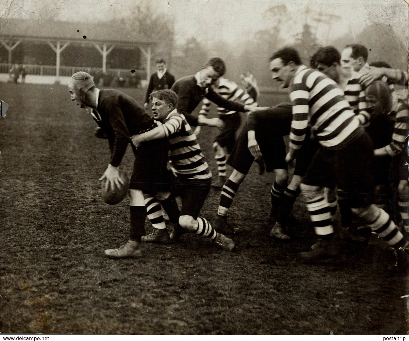
[[360, 120], [344, 98], [344, 91], [321, 72], [300, 65], [290, 88], [292, 122], [290, 147], [300, 149], [308, 125], [319, 143], [339, 149], [348, 143]]

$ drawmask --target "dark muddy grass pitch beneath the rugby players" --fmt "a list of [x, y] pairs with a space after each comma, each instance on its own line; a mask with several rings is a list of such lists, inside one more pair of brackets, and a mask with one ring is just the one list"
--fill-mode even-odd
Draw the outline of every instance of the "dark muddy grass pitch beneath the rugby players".
[[[305, 265], [313, 236], [297, 199], [292, 242], [267, 225], [272, 174], [253, 167], [230, 220], [243, 228], [236, 250], [185, 235], [178, 245], [144, 245], [140, 260], [112, 260], [106, 248], [128, 235], [128, 201], [106, 205], [98, 178], [108, 143], [67, 88], [0, 84], [10, 105], [0, 120], [0, 332], [56, 334], [406, 334], [405, 276], [382, 241], [343, 245], [339, 261]], [[125, 89], [143, 103], [144, 90]], [[261, 105], [286, 100], [263, 95]], [[216, 129], [200, 145], [214, 175]], [[123, 168], [131, 171], [128, 148]], [[202, 216], [210, 222], [220, 192]], [[339, 229], [339, 216], [336, 228]], [[150, 232], [148, 221], [147, 232]]]

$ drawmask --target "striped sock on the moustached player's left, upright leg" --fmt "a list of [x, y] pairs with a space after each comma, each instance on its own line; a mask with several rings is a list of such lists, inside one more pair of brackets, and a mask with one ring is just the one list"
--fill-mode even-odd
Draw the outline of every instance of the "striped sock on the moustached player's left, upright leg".
[[315, 233], [320, 237], [332, 236], [334, 229], [331, 224], [331, 210], [324, 194], [317, 192], [315, 195], [308, 194], [304, 197]]

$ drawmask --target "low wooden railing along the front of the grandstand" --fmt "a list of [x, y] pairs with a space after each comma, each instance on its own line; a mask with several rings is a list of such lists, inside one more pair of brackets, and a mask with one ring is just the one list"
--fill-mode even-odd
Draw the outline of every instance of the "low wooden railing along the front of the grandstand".
[[[38, 75], [38, 76], [55, 76], [56, 66], [54, 65], [25, 65], [27, 75]], [[8, 74], [10, 71], [9, 64], [0, 63], [0, 74]], [[102, 74], [102, 68], [97, 67], [78, 67], [78, 66], [60, 66], [60, 76], [71, 76], [78, 71], [85, 71], [89, 74], [100, 73]], [[118, 77], [126, 77], [132, 72], [128, 69], [107, 69], [108, 74]], [[133, 73], [139, 76], [139, 79], [146, 78], [146, 70], [136, 70]]]

